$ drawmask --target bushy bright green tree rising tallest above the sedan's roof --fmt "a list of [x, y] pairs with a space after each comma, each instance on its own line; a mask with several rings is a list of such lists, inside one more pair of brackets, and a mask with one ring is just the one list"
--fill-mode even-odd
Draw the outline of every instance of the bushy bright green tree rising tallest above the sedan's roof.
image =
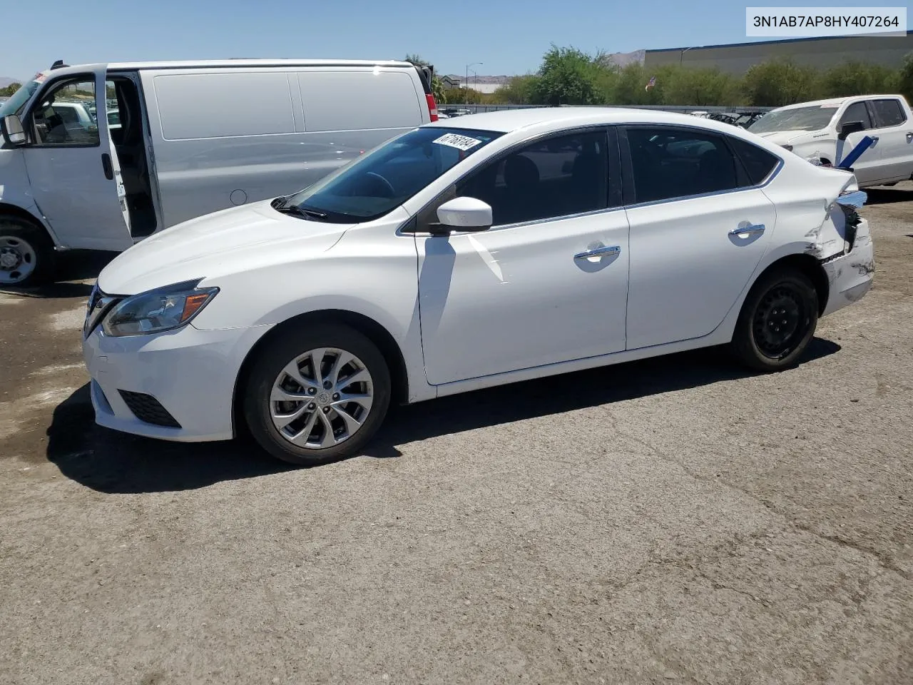
[[545, 53], [531, 88], [531, 101], [543, 105], [593, 105], [604, 102], [598, 88], [602, 55], [591, 57], [576, 47], [557, 47]]

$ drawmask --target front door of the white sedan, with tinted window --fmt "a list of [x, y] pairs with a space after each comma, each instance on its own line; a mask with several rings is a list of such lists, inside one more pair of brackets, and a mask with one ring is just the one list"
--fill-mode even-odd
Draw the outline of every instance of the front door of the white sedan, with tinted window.
[[416, 236], [429, 383], [624, 350], [628, 225], [608, 147], [591, 130], [489, 162], [456, 195], [488, 202], [495, 225]]

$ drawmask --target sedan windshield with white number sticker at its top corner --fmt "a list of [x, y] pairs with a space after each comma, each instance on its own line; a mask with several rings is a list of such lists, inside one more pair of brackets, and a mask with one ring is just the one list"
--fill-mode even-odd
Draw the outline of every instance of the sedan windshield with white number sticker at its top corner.
[[501, 135], [443, 127], [415, 129], [291, 195], [282, 206], [298, 207], [324, 221], [373, 221]]

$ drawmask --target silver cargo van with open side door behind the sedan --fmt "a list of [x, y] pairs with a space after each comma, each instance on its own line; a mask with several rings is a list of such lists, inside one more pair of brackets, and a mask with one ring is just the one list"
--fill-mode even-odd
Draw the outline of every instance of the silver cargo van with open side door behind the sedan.
[[57, 250], [296, 192], [435, 121], [430, 79], [398, 61], [56, 62], [0, 106], [0, 287], [47, 279]]

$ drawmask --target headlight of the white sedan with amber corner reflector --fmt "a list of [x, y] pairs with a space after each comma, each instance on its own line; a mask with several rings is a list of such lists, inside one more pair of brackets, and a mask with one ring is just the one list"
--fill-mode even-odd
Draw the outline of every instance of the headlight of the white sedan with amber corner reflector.
[[197, 288], [203, 279], [175, 283], [133, 295], [115, 306], [101, 323], [105, 335], [146, 335], [181, 328], [215, 297], [218, 288]]

